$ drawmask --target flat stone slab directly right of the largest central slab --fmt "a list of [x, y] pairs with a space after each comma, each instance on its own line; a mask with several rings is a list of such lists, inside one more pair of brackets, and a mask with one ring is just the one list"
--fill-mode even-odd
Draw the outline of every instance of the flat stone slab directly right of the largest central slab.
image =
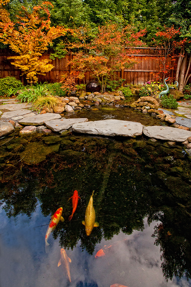
[[191, 131], [155, 125], [144, 127], [143, 134], [159, 140], [183, 142], [191, 136]]

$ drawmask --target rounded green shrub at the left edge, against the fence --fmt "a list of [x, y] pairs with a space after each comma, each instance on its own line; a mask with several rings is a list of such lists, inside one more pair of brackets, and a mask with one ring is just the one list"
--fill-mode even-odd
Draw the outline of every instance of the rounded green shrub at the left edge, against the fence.
[[0, 79], [0, 96], [11, 96], [16, 94], [16, 92], [23, 87], [20, 80], [15, 77], [5, 77]]

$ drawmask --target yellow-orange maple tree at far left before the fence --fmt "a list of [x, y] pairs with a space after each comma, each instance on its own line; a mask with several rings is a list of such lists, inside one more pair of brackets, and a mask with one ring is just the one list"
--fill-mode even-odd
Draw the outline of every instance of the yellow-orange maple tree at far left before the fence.
[[[11, 64], [21, 69], [22, 75], [26, 74], [27, 81], [32, 85], [38, 81], [37, 74], [45, 75], [54, 68], [49, 64], [49, 59], [39, 60], [39, 56], [42, 56], [54, 39], [65, 35], [67, 30], [60, 26], [50, 26], [49, 7], [53, 7], [50, 2], [35, 6], [32, 13], [22, 7], [14, 23], [5, 9], [8, 2], [0, 0], [0, 41], [8, 44], [19, 55], [10, 56], [8, 59], [14, 60]], [[44, 17], [40, 16], [42, 12]]]

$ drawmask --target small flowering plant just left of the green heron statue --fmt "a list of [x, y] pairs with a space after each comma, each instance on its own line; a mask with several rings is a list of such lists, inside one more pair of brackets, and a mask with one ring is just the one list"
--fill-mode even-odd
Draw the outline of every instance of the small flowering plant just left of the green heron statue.
[[151, 96], [157, 98], [161, 91], [165, 90], [165, 87], [160, 82], [154, 82], [154, 80], [148, 81], [140, 90], [139, 96], [146, 97]]

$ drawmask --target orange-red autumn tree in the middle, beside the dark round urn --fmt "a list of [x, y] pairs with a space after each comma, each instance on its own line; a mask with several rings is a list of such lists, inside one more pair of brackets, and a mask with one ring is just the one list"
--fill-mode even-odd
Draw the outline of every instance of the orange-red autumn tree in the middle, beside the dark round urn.
[[75, 50], [75, 56], [70, 64], [73, 69], [92, 70], [102, 92], [105, 92], [108, 76], [135, 63], [129, 54], [135, 52], [134, 47], [143, 45], [139, 38], [144, 33], [145, 30], [134, 32], [131, 26], [121, 28], [117, 24], [106, 24], [99, 27], [94, 39], [90, 39], [86, 28], [75, 29], [72, 31], [75, 40], [70, 45]]

